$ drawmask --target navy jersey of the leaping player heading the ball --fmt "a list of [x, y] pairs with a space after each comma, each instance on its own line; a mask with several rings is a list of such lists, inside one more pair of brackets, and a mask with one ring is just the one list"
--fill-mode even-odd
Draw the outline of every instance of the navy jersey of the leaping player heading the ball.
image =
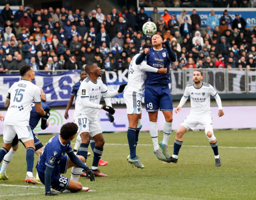
[[168, 52], [166, 49], [156, 50], [153, 47], [149, 49], [150, 52], [146, 55], [147, 64], [154, 68], [167, 68], [166, 74], [159, 74], [154, 72], [146, 72], [147, 78], [145, 80], [145, 85], [159, 84], [168, 85], [170, 83], [169, 67], [170, 59], [167, 57]]

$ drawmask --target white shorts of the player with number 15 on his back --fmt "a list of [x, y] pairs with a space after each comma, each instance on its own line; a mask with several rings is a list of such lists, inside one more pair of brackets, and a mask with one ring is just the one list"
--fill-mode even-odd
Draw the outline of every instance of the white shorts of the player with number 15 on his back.
[[4, 143], [10, 144], [17, 134], [18, 139], [23, 143], [29, 140], [34, 140], [32, 130], [29, 126], [15, 126], [15, 125], [4, 125], [3, 130]]

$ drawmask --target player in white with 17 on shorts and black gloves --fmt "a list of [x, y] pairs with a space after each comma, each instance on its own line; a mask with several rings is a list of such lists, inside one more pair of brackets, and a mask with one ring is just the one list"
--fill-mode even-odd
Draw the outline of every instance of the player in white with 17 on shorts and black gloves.
[[[120, 85], [117, 91], [108, 91], [100, 79], [101, 70], [97, 64], [90, 62], [86, 65], [85, 70], [89, 77], [84, 79], [80, 85], [74, 113], [74, 120], [78, 124], [79, 134], [82, 138], [78, 154], [84, 156], [85, 159], [87, 158], [90, 135], [96, 142], [93, 150], [92, 172], [95, 176], [107, 176], [98, 170], [98, 162], [104, 146], [104, 138], [98, 122], [98, 109], [106, 110], [110, 114], [114, 114], [115, 110], [110, 106], [100, 105], [100, 98], [101, 95], [110, 98], [122, 93], [127, 84]], [[77, 174], [80, 176], [80, 173]]]

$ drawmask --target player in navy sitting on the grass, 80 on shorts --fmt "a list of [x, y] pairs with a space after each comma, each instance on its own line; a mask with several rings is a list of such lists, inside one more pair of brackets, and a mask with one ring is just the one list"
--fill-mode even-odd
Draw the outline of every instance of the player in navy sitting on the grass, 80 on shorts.
[[[82, 168], [86, 170], [86, 174], [90, 175], [90, 180], [94, 180], [92, 170], [84, 164], [84, 157], [76, 156], [72, 150], [70, 141], [75, 138], [77, 131], [78, 126], [74, 122], [66, 123], [61, 127], [60, 134], [53, 136], [43, 148], [36, 168], [40, 180], [45, 185], [45, 196], [57, 195], [51, 193], [51, 187], [59, 192], [89, 190], [89, 188], [83, 188], [80, 182], [72, 179], [72, 176], [69, 179], [61, 175], [65, 174], [70, 167], [75, 167], [77, 171], [75, 172], [72, 168], [72, 175], [79, 174], [78, 170]], [[66, 153], [67, 155], [65, 155]]]

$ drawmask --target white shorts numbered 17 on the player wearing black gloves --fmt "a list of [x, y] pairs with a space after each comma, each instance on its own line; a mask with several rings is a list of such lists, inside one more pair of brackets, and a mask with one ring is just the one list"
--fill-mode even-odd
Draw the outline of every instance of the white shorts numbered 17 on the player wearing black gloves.
[[78, 126], [78, 134], [82, 132], [89, 132], [91, 137], [102, 133], [100, 123], [97, 119], [88, 119], [86, 116], [74, 119], [76, 125]]

